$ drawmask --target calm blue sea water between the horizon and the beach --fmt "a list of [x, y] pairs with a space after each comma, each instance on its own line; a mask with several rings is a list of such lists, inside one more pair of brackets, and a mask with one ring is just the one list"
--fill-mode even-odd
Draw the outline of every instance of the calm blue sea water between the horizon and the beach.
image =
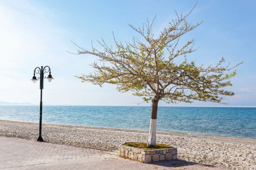
[[[151, 107], [43, 106], [43, 122], [148, 130]], [[0, 119], [39, 122], [39, 106], [0, 106]], [[256, 139], [256, 108], [158, 107], [157, 130]]]

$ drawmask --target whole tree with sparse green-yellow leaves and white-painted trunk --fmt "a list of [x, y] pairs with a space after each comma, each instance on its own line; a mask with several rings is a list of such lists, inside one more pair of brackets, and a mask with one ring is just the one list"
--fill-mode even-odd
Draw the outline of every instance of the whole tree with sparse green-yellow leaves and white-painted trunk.
[[[234, 95], [232, 91], [222, 88], [232, 85], [229, 79], [236, 75], [236, 70], [230, 70], [241, 63], [224, 67], [222, 57], [215, 66], [197, 66], [194, 61], [187, 61], [187, 54], [197, 50], [193, 48], [194, 39], [179, 46], [179, 38], [201, 24], [187, 22], [186, 18], [193, 9], [185, 16], [176, 12], [177, 19], [172, 20], [158, 36], [152, 30], [156, 17], [152, 22], [147, 20], [142, 28], [129, 24], [141, 37], [133, 37], [133, 43], [122, 43], [113, 34], [115, 50], [107, 46], [103, 39], [98, 41], [102, 51], [94, 46], [92, 50], [86, 50], [74, 43], [79, 48], [78, 54], [98, 56], [98, 61], [102, 63], [91, 65], [94, 73], [77, 76], [82, 82], [99, 86], [114, 84], [120, 92], [133, 91], [133, 95], [143, 97], [145, 102], [152, 102], [148, 146], [156, 146], [158, 101], [225, 103], [224, 96]], [[178, 62], [180, 56], [184, 58]]]

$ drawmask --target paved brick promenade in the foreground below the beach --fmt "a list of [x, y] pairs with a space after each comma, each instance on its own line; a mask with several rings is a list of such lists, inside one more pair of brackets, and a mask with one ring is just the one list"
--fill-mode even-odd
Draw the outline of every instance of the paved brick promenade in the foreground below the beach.
[[223, 170], [186, 161], [144, 164], [116, 152], [0, 136], [0, 170]]

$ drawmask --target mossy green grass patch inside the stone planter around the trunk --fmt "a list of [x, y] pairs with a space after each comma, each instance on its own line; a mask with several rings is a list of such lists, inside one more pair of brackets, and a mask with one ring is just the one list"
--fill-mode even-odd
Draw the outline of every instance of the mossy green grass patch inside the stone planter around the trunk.
[[125, 142], [123, 145], [124, 146], [131, 146], [131, 147], [139, 148], [139, 149], [143, 149], [143, 150], [156, 150], [156, 149], [174, 148], [171, 145], [161, 144], [161, 143], [157, 143], [157, 145], [155, 147], [148, 147], [148, 144], [144, 143], [144, 142]]

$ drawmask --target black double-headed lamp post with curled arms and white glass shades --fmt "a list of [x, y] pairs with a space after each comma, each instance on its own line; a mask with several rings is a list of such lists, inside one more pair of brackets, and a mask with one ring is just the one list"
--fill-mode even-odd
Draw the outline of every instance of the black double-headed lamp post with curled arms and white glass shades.
[[[48, 77], [44, 76], [44, 73], [48, 73]], [[36, 77], [36, 74], [39, 74], [39, 77]], [[39, 137], [38, 141], [43, 142], [42, 138], [42, 89], [43, 89], [43, 79], [48, 79], [48, 82], [51, 82], [54, 78], [51, 75], [51, 68], [49, 66], [45, 66], [44, 68], [41, 66], [41, 68], [37, 67], [34, 70], [34, 76], [31, 79], [33, 83], [37, 83], [38, 80], [40, 80], [40, 119], [39, 119]]]

